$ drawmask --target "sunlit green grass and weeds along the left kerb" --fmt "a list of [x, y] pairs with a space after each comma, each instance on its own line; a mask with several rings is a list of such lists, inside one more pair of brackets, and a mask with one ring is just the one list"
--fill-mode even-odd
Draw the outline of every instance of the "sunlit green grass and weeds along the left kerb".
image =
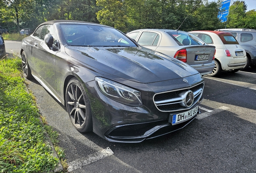
[[[0, 172], [48, 172], [58, 164], [21, 76], [21, 59], [0, 60]], [[56, 138], [56, 133], [50, 135]], [[58, 136], [58, 135], [57, 135]], [[56, 142], [56, 141], [55, 141]]]

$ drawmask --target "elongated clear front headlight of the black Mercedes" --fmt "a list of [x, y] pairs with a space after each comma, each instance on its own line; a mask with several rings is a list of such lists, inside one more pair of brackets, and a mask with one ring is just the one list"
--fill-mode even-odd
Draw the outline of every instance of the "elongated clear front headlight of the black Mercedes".
[[143, 105], [139, 91], [106, 78], [95, 77], [95, 81], [101, 93], [110, 99], [134, 107]]

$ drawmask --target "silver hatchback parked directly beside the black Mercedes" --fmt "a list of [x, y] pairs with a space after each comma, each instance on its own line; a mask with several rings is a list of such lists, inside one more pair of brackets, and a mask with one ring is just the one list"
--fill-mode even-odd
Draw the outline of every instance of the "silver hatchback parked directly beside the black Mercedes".
[[129, 32], [127, 35], [141, 46], [186, 62], [201, 75], [210, 74], [215, 66], [215, 46], [205, 44], [188, 32], [140, 29]]

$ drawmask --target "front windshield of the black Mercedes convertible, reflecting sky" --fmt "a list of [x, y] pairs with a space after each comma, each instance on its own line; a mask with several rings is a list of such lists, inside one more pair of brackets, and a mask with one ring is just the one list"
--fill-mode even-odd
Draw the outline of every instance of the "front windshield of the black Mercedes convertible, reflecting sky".
[[91, 24], [61, 24], [60, 28], [70, 46], [136, 46], [114, 28]]

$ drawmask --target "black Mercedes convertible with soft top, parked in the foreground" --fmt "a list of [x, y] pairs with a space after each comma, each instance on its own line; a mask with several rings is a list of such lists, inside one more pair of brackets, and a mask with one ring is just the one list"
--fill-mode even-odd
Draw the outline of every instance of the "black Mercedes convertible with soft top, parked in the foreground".
[[181, 129], [200, 112], [204, 80], [194, 68], [109, 26], [44, 22], [23, 39], [21, 56], [25, 77], [67, 107], [79, 132], [136, 143]]

